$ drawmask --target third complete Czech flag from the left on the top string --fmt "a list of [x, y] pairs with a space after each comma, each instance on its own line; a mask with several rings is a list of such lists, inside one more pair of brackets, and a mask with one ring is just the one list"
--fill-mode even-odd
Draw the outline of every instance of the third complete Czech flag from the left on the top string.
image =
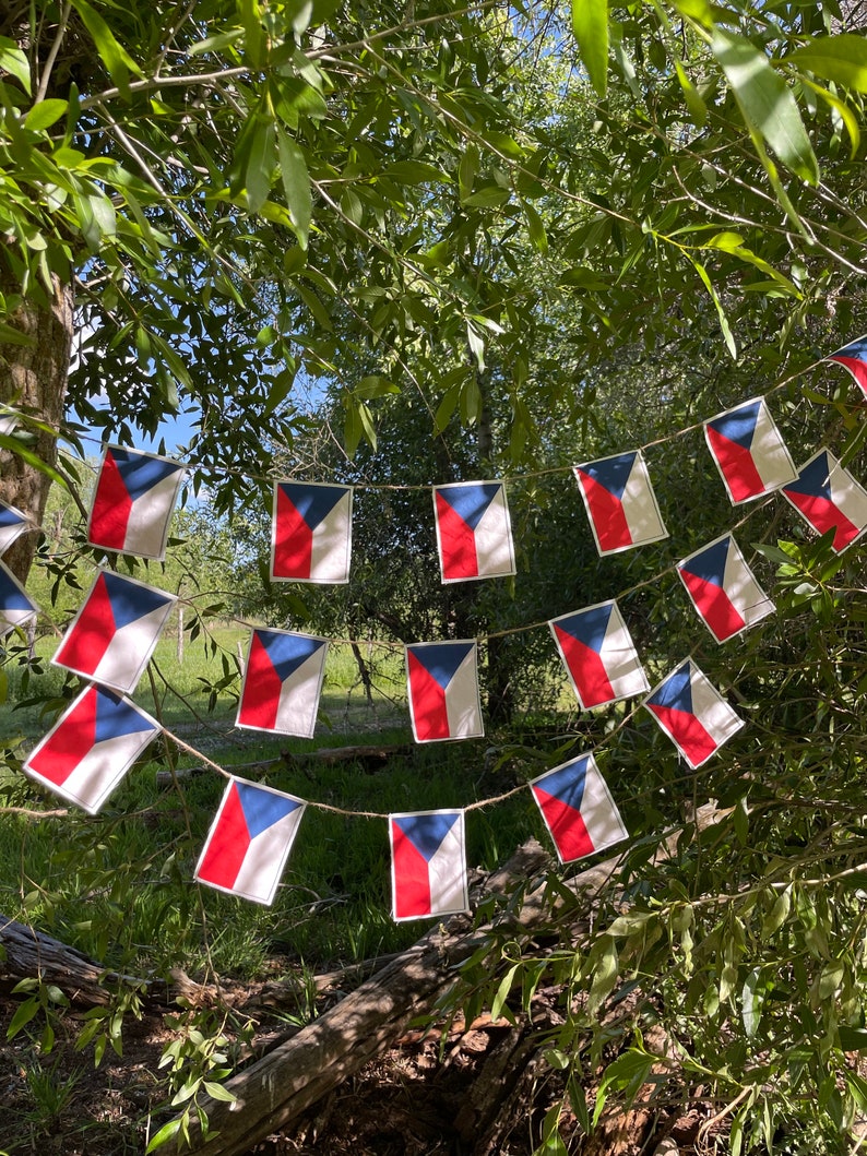
[[433, 487], [443, 581], [513, 575], [514, 547], [502, 482]]

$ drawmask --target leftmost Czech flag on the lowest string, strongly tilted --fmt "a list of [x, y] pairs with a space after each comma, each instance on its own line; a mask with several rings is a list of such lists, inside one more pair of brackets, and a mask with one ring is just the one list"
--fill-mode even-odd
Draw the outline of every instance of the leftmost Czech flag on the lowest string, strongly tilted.
[[160, 725], [126, 698], [88, 687], [24, 763], [24, 772], [95, 815]]

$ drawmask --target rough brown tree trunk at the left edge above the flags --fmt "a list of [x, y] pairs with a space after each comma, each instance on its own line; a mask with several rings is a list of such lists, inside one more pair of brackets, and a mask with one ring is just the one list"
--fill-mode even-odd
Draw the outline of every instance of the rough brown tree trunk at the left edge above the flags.
[[[7, 303], [17, 297], [15, 277], [0, 268], [0, 292]], [[21, 301], [7, 319], [23, 343], [0, 343], [0, 405], [44, 422], [28, 446], [50, 466], [57, 462], [57, 433], [64, 416], [73, 338], [73, 291], [54, 279], [51, 302]], [[18, 430], [28, 432], [21, 423]], [[40, 526], [51, 479], [9, 450], [0, 449], [0, 501], [17, 506]], [[36, 554], [37, 534], [22, 534], [3, 554], [3, 563], [23, 583]]]

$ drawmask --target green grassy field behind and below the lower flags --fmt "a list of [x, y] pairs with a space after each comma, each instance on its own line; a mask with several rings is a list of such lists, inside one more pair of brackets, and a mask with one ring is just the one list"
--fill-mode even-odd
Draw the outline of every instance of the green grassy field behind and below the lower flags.
[[[7, 666], [0, 705], [0, 747], [23, 758], [52, 725], [77, 679], [50, 664], [54, 639], [37, 644], [29, 666]], [[371, 706], [348, 647], [326, 662], [320, 722], [313, 740], [232, 728], [237, 660], [247, 630], [222, 625], [205, 639], [161, 640], [135, 694], [138, 704], [192, 750], [157, 740], [127, 773], [98, 816], [74, 808], [35, 821], [7, 814], [0, 824], [0, 910], [35, 922], [128, 973], [168, 972], [254, 977], [274, 968], [313, 970], [369, 958], [414, 941], [424, 924], [391, 917], [387, 825], [391, 812], [466, 806], [513, 785], [502, 778], [487, 740], [414, 746], [406, 712], [402, 654], [380, 666]], [[218, 694], [213, 694], [215, 684]], [[318, 765], [317, 747], [400, 744], [386, 766]], [[309, 803], [271, 907], [193, 882], [225, 778], [202, 759], [267, 783]], [[268, 761], [276, 761], [268, 763]], [[250, 764], [268, 763], [265, 766]], [[175, 783], [157, 778], [176, 770]], [[0, 803], [39, 808], [55, 800], [24, 776], [6, 772]], [[350, 814], [318, 809], [325, 803]], [[531, 833], [542, 835], [528, 792], [467, 816], [470, 867], [494, 867]]]

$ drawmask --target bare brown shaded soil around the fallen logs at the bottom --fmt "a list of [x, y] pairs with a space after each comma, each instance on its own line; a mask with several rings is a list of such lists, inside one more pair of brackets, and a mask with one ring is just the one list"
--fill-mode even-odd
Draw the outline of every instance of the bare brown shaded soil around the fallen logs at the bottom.
[[[108, 1048], [95, 1067], [92, 1048], [75, 1048], [82, 1027], [75, 1015], [66, 1015], [47, 1054], [40, 1055], [25, 1033], [7, 1042], [17, 1006], [14, 998], [0, 998], [0, 1154], [143, 1153], [149, 1136], [170, 1118], [158, 1067], [172, 1038], [166, 1010], [129, 1018], [123, 1057]], [[284, 1021], [261, 1017], [257, 1051], [291, 1030]], [[251, 1148], [250, 1156], [529, 1156], [540, 1143], [546, 1110], [563, 1090], [543, 1061], [523, 1067], [496, 1118], [486, 1117], [497, 1098], [491, 1082], [509, 1083], [498, 1054], [507, 1055], [507, 1062], [521, 1054], [514, 1047], [518, 1030], [505, 1020], [483, 1017], [450, 1030], [409, 1032], [291, 1128]], [[710, 1114], [702, 1107], [639, 1111], [587, 1140], [566, 1109], [560, 1132], [568, 1151], [581, 1156], [712, 1154], [721, 1150], [717, 1138], [701, 1133]], [[162, 1151], [176, 1151], [175, 1144]]]

